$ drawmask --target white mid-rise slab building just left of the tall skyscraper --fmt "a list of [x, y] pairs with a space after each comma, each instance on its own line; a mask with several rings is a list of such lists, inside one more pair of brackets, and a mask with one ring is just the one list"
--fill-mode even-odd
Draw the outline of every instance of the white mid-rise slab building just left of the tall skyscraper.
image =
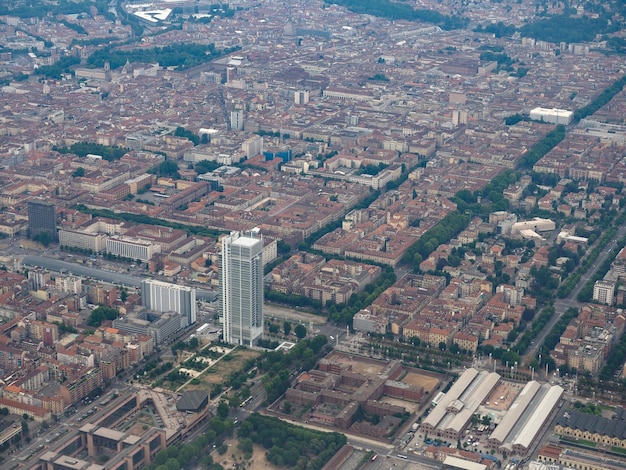
[[[154, 279], [141, 281], [141, 304], [155, 312], [176, 312], [196, 322], [196, 289]], [[185, 325], [185, 326], [187, 326]]]

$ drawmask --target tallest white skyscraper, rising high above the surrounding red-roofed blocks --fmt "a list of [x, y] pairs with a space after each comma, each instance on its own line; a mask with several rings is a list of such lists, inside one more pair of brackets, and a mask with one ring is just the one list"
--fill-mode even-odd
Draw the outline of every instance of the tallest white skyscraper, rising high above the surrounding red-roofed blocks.
[[262, 254], [259, 229], [222, 238], [220, 318], [226, 343], [251, 346], [263, 334]]

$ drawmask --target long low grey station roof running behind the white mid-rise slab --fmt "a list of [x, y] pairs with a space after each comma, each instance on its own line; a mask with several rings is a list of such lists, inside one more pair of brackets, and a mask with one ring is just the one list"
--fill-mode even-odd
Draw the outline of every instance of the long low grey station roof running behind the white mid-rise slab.
[[[39, 266], [59, 273], [62, 271], [69, 272], [77, 276], [91, 277], [93, 279], [99, 279], [112, 284], [128, 287], [139, 287], [141, 285], [141, 281], [143, 280], [140, 277], [132, 276], [130, 274], [105, 271], [101, 268], [92, 268], [82, 264], [46, 258], [44, 256], [26, 255], [22, 260], [22, 264], [31, 267]], [[217, 292], [215, 291], [196, 289], [196, 298], [198, 300], [213, 301], [216, 297]]]

